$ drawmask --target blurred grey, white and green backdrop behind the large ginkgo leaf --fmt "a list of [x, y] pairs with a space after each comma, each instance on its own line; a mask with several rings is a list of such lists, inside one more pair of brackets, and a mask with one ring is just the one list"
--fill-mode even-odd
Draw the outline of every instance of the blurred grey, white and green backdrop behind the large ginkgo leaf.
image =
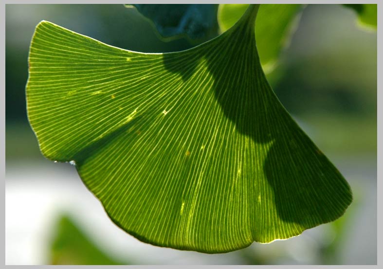
[[6, 5], [6, 264], [376, 264], [377, 34], [361, 28], [352, 9], [308, 5], [267, 76], [348, 180], [354, 202], [337, 221], [301, 236], [210, 255], [122, 232], [73, 166], [42, 157], [25, 108], [29, 43], [42, 19], [132, 51], [196, 45], [162, 41], [152, 23], [122, 4]]

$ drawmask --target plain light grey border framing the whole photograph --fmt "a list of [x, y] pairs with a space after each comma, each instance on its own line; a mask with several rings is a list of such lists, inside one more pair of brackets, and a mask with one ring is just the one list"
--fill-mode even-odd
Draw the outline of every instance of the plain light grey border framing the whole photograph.
[[[129, 1], [130, 3], [139, 3], [140, 1]], [[155, 1], [144, 1], [145, 3], [156, 3]], [[177, 0], [167, 0], [167, 1], [163, 1], [163, 3], [187, 3], [187, 2], [190, 2], [190, 1], [177, 1]], [[201, 1], [201, 0], [197, 0], [197, 1], [193, 1], [194, 3], [206, 3], [206, 1]], [[208, 1], [208, 3], [233, 3], [233, 2], [236, 2], [234, 0], [231, 0], [231, 1], [227, 1], [227, 0], [221, 0], [221, 1]], [[240, 1], [240, 3], [251, 3], [253, 1]], [[302, 1], [302, 0], [292, 0], [292, 1], [287, 1], [287, 0], [277, 0], [277, 1], [274, 1], [274, 0], [270, 0], [270, 1], [258, 1], [260, 3], [309, 3], [309, 4], [339, 4], [339, 3], [361, 3], [363, 2], [362, 0], [338, 0], [338, 1], [331, 1], [331, 0], [322, 0], [322, 1]], [[48, 0], [37, 0], [35, 1], [34, 3], [40, 3], [40, 4], [53, 4], [53, 3], [63, 3], [63, 1], [58, 1], [58, 0], [54, 0], [54, 1], [48, 1]], [[68, 4], [80, 4], [80, 3], [83, 3], [83, 4], [95, 4], [95, 3], [98, 3], [98, 4], [102, 4], [102, 3], [108, 3], [108, 4], [112, 4], [112, 3], [115, 3], [115, 4], [125, 4], [127, 3], [127, 1], [112, 1], [112, 2], [107, 2], [106, 0], [80, 0], [80, 1], [73, 1], [73, 0], [70, 0], [70, 1], [66, 1], [65, 3], [68, 3]], [[382, 18], [381, 16], [383, 15], [383, 3], [380, 3], [378, 0], [373, 0], [373, 1], [368, 1], [368, 3], [377, 3], [378, 4], [378, 30], [377, 30], [377, 35], [378, 35], [378, 48], [382, 48], [383, 45], [382, 45], [382, 26], [383, 26], [383, 23], [382, 23], [382, 20], [379, 19], [379, 18]], [[2, 241], [4, 242], [4, 244], [2, 245], [1, 247], [1, 261], [0, 261], [0, 264], [3, 264], [4, 265], [4, 268], [50, 268], [52, 266], [11, 266], [11, 265], [5, 265], [5, 5], [6, 4], [31, 4], [31, 2], [29, 1], [26, 1], [26, 0], [16, 0], [16, 1], [4, 1], [4, 3], [1, 4], [0, 6], [0, 18], [1, 19], [1, 27], [0, 27], [0, 51], [1, 51], [1, 57], [0, 57], [0, 60], [1, 60], [1, 65], [0, 65], [0, 92], [1, 92], [1, 97], [0, 97], [0, 114], [1, 114], [1, 117], [0, 117], [0, 126], [1, 126], [1, 132], [0, 132], [0, 150], [1, 150], [1, 153], [0, 153], [0, 171], [1, 171], [1, 182], [2, 182], [2, 186], [3, 186], [3, 191], [2, 191], [2, 194], [3, 194], [3, 198], [1, 199], [1, 205], [0, 205], [0, 210], [1, 210], [1, 216], [4, 218], [2, 221], [1, 221], [1, 228], [2, 228], [2, 231], [4, 231], [3, 233], [1, 233], [1, 238], [2, 238]], [[381, 44], [381, 45], [379, 45]], [[383, 147], [383, 144], [379, 141], [379, 137], [380, 135], [382, 135], [382, 122], [381, 122], [381, 116], [382, 116], [382, 113], [383, 113], [383, 108], [379, 106], [379, 103], [381, 103], [382, 101], [382, 98], [383, 98], [383, 95], [382, 93], [380, 92], [380, 90], [382, 90], [382, 77], [379, 76], [379, 74], [382, 74], [382, 53], [380, 53], [380, 50], [378, 49], [378, 81], [377, 81], [377, 113], [378, 113], [378, 117], [377, 117], [377, 125], [378, 125], [378, 147], [377, 147], [377, 160], [378, 160], [378, 176], [377, 176], [377, 179], [378, 179], [378, 182], [377, 182], [377, 192], [378, 194], [382, 192], [382, 184], [379, 182], [379, 178], [380, 178], [380, 175], [381, 175], [381, 166], [380, 164], [383, 164], [383, 160], [382, 160], [382, 147]], [[381, 212], [379, 211], [379, 208], [381, 208], [381, 203], [382, 203], [382, 199], [379, 197], [378, 195], [378, 198], [377, 198], [377, 202], [378, 202], [378, 212], [377, 212], [377, 221], [378, 221], [378, 231], [377, 231], [377, 237], [378, 237], [378, 244], [377, 244], [377, 252], [378, 252], [378, 255], [377, 255], [377, 265], [374, 265], [374, 266], [369, 266], [369, 267], [378, 267], [378, 265], [380, 264], [380, 256], [379, 256], [379, 253], [381, 253], [381, 244], [380, 244], [380, 239], [381, 239], [381, 233], [380, 233], [380, 230], [379, 230], [379, 224], [382, 223], [381, 221], [381, 218], [382, 218], [382, 215], [381, 215]], [[68, 266], [55, 266], [55, 268], [67, 268]], [[70, 266], [71, 268], [80, 268], [80, 266]], [[115, 266], [86, 266], [87, 268], [115, 268]], [[185, 269], [188, 269], [188, 268], [196, 268], [197, 266], [118, 266], [119, 268], [121, 267], [126, 267], [126, 268], [185, 268]], [[222, 268], [222, 266], [198, 266], [198, 268]], [[223, 268], [239, 268], [239, 266], [223, 266]], [[255, 267], [255, 266], [246, 266], [246, 267]], [[265, 268], [265, 267], [268, 267], [269, 266], [256, 266], [256, 267], [259, 267], [259, 268]], [[271, 266], [271, 267], [280, 267], [280, 266]], [[288, 267], [288, 268], [295, 268], [296, 266], [283, 266], [283, 267]], [[306, 266], [305, 266], [306, 267]], [[326, 266], [307, 266], [309, 268], [324, 268]], [[346, 266], [342, 266], [342, 267], [346, 267]], [[365, 268], [365, 266], [347, 266], [348, 267], [352, 267], [352, 268]], [[83, 268], [83, 266], [81, 267]]]

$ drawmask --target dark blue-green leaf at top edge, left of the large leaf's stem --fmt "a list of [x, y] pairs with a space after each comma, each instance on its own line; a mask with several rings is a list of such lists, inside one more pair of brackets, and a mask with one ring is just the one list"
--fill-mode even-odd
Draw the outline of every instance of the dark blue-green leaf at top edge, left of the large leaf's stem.
[[211, 39], [218, 34], [218, 4], [131, 4], [150, 19], [166, 38], [188, 37], [192, 42]]

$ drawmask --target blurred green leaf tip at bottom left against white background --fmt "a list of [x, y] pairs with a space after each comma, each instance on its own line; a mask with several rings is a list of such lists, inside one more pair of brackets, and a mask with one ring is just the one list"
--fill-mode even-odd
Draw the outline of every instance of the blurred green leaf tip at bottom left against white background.
[[51, 243], [52, 265], [122, 265], [101, 251], [75, 224], [62, 215], [55, 226]]

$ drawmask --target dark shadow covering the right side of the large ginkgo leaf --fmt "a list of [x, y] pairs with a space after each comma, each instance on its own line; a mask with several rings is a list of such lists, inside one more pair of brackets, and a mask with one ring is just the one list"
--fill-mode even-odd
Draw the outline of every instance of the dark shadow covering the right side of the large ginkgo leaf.
[[[225, 57], [217, 58], [209, 51], [204, 54], [203, 47], [198, 54], [208, 62], [209, 72], [215, 78], [215, 97], [236, 130], [255, 143], [273, 143], [263, 171], [273, 188], [278, 216], [306, 229], [335, 220], [352, 201], [350, 186], [275, 96], [260, 68], [254, 28], [237, 25], [231, 31], [227, 37], [230, 41], [221, 41], [225, 47], [233, 48], [224, 53]], [[246, 46], [242, 45], [243, 40], [247, 40]], [[219, 49], [224, 51], [218, 45]], [[185, 59], [187, 55], [183, 69], [168, 70], [182, 75], [190, 72], [193, 62]], [[164, 54], [165, 66], [170, 62], [174, 64], [173, 55]], [[229, 65], [228, 72], [219, 68]], [[251, 185], [249, 189], [256, 192]]]

